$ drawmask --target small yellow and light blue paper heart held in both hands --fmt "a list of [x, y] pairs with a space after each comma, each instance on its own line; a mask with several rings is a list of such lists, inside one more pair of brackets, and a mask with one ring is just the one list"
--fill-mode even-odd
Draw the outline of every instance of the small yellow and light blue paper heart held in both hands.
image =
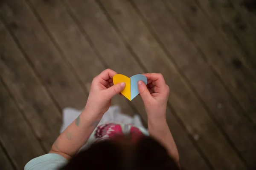
[[148, 79], [145, 75], [133, 75], [128, 78], [125, 75], [116, 74], [113, 76], [113, 84], [125, 82], [125, 88], [122, 90], [122, 95], [128, 98], [129, 101], [134, 99], [139, 94], [137, 82], [142, 80], [145, 84], [148, 83]]

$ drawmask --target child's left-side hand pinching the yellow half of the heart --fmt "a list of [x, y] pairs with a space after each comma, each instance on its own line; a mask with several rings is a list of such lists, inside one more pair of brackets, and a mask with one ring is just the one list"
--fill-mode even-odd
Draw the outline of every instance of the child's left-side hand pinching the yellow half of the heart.
[[116, 74], [115, 71], [106, 69], [93, 78], [87, 104], [84, 108], [87, 113], [96, 114], [97, 118], [103, 116], [111, 106], [111, 98], [125, 88], [124, 82], [113, 85], [112, 78]]

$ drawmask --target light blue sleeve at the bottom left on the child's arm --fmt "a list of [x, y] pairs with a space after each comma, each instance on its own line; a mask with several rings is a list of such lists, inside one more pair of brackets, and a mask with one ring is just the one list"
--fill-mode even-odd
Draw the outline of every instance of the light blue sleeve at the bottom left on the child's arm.
[[59, 167], [66, 163], [67, 159], [64, 157], [55, 153], [48, 153], [29, 161], [24, 170], [58, 170]]

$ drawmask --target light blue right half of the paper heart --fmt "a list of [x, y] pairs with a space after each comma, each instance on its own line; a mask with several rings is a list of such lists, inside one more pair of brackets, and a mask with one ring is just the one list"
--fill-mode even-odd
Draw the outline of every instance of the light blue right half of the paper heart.
[[139, 94], [138, 81], [142, 80], [145, 84], [148, 83], [148, 79], [145, 75], [133, 75], [131, 79], [131, 100]]

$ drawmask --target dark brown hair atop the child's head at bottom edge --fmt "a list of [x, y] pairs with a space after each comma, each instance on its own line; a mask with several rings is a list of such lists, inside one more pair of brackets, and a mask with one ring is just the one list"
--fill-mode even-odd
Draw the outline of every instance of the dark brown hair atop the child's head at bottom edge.
[[166, 149], [153, 138], [143, 137], [136, 143], [129, 137], [118, 138], [93, 144], [60, 170], [179, 170]]

